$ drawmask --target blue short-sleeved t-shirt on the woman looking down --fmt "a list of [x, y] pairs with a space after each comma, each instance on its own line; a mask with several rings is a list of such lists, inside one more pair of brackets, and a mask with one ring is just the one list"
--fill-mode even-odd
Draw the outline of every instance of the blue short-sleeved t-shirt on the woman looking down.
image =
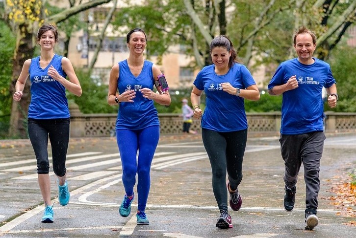
[[202, 128], [219, 132], [246, 130], [244, 99], [223, 91], [221, 83], [242, 89], [256, 84], [245, 65], [234, 63], [225, 75], [217, 75], [215, 65], [203, 67], [194, 81], [195, 87], [206, 95]]

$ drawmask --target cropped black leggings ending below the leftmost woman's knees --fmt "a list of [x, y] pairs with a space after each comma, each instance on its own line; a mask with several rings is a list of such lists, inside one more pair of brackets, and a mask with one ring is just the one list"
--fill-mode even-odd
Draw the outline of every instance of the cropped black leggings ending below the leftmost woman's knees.
[[28, 135], [37, 159], [37, 173], [49, 173], [47, 146], [50, 137], [53, 172], [59, 177], [66, 174], [69, 125], [70, 118], [48, 120], [28, 118]]

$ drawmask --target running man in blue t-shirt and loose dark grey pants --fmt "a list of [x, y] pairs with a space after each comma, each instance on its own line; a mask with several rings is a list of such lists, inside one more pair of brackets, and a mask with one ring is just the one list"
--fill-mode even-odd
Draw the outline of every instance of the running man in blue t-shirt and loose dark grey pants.
[[330, 65], [313, 57], [315, 34], [301, 27], [294, 34], [298, 58], [282, 62], [268, 85], [270, 95], [283, 94], [280, 151], [284, 160], [284, 209], [294, 208], [298, 173], [303, 163], [306, 184], [305, 229], [318, 225], [316, 216], [320, 189], [319, 167], [325, 135], [323, 131], [322, 90], [326, 88], [330, 108], [338, 95]]

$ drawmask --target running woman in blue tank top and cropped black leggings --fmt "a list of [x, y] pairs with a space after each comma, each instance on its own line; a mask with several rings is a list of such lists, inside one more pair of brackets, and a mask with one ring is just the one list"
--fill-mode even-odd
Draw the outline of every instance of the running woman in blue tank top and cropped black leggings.
[[[72, 63], [53, 52], [57, 42], [56, 27], [51, 24], [42, 25], [37, 34], [41, 55], [25, 61], [13, 96], [15, 101], [21, 100], [29, 75], [31, 102], [28, 108], [28, 135], [36, 155], [38, 183], [45, 201], [42, 222], [53, 222], [48, 138], [51, 141], [53, 172], [58, 177], [58, 200], [62, 206], [69, 203], [66, 156], [70, 114], [66, 89], [78, 97], [81, 95], [81, 87]], [[67, 76], [69, 80], [66, 79]]]

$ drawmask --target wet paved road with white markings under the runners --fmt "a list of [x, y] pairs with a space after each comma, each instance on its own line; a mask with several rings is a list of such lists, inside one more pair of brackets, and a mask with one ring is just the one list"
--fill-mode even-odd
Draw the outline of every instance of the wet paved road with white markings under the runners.
[[[278, 137], [249, 138], [239, 187], [243, 198], [238, 212], [229, 211], [234, 228], [219, 230], [219, 215], [211, 188], [210, 164], [200, 136], [162, 136], [151, 172], [146, 209], [149, 226], [137, 226], [134, 216], [118, 213], [124, 195], [120, 155], [113, 138], [71, 139], [68, 181], [71, 201], [60, 206], [51, 174], [54, 223], [41, 223], [42, 197], [28, 140], [0, 141], [0, 236], [38, 237], [179, 237], [179, 238], [299, 238], [355, 237], [356, 227], [337, 216], [328, 192], [356, 167], [356, 135], [328, 135], [321, 165], [321, 191], [314, 231], [304, 229], [303, 170], [297, 184], [296, 207], [283, 209], [283, 163]], [[51, 150], [49, 150], [51, 151]]]

